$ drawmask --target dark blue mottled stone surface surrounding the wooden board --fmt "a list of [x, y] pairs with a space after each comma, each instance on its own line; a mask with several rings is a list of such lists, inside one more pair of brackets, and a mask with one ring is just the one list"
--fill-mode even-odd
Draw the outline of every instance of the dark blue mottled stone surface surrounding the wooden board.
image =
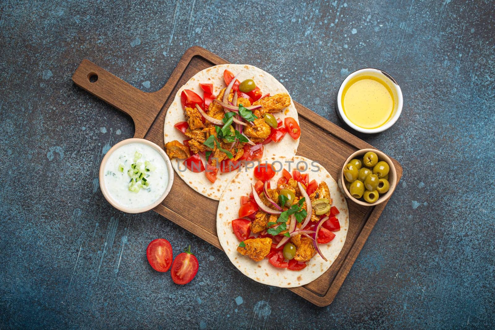
[[[129, 2], [1, 2], [0, 328], [495, 327], [494, 1]], [[74, 86], [77, 65], [151, 92], [194, 45], [272, 73], [339, 125], [347, 73], [399, 82], [398, 122], [362, 138], [402, 164], [402, 181], [329, 307], [101, 195], [99, 162], [134, 128]], [[192, 245], [192, 283], [149, 267], [157, 237]]]

